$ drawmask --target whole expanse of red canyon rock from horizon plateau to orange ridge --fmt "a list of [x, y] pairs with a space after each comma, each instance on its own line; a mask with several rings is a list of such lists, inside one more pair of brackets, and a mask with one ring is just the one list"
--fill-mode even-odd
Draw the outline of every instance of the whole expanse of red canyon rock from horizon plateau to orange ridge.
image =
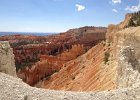
[[10, 35], [0, 40], [10, 41], [14, 49], [16, 67], [20, 69], [17, 75], [34, 85], [104, 40], [105, 33], [103, 27], [82, 27], [45, 37]]

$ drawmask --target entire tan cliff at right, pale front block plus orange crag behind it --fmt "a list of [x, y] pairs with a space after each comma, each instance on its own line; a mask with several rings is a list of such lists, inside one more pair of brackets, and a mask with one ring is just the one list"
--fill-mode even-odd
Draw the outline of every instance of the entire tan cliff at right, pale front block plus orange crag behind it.
[[117, 88], [139, 84], [140, 68], [140, 27], [128, 27], [132, 14], [127, 14], [123, 22], [110, 25], [107, 42], [112, 44], [112, 62], [116, 63]]

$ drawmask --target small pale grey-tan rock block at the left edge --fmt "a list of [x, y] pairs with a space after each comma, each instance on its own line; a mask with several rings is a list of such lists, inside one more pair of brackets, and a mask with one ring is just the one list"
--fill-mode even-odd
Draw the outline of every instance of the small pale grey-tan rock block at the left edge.
[[7, 41], [0, 42], [0, 72], [16, 76], [13, 49]]

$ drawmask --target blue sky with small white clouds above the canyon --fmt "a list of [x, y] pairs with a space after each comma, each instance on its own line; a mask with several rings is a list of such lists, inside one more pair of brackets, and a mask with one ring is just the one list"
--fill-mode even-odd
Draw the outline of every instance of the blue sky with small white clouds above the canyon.
[[0, 0], [1, 32], [64, 32], [108, 26], [140, 10], [140, 0]]

